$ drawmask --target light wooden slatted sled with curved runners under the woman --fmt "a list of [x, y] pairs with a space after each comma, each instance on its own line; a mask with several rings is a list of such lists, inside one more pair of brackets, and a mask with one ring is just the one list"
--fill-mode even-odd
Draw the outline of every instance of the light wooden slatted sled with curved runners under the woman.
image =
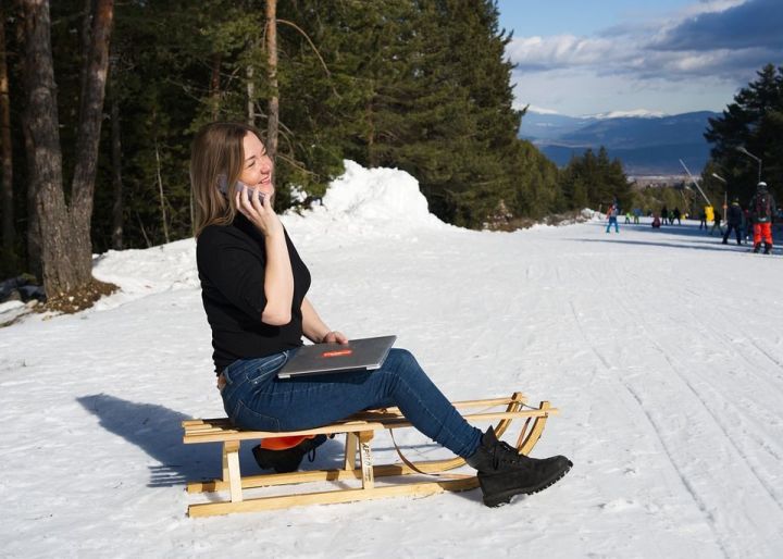
[[[510, 398], [495, 398], [485, 400], [468, 400], [453, 403], [468, 421], [473, 424], [497, 421], [495, 433], [498, 438], [506, 433], [512, 420], [525, 419], [517, 437], [515, 447], [521, 454], [527, 455], [538, 442], [544, 431], [547, 418], [558, 412], [548, 401], [542, 401], [538, 408], [525, 403], [521, 393], [514, 393]], [[531, 423], [532, 421], [532, 423]], [[424, 496], [445, 490], [467, 490], [478, 486], [474, 474], [450, 473], [465, 464], [464, 459], [456, 457], [445, 460], [428, 460], [405, 462], [386, 465], [374, 465], [370, 443], [376, 431], [389, 431], [410, 427], [411, 424], [402, 417], [399, 409], [387, 408], [357, 413], [331, 425], [307, 431], [272, 433], [265, 431], [243, 431], [229, 422], [228, 419], [188, 420], [183, 421], [186, 445], [198, 443], [223, 443], [223, 476], [220, 480], [189, 482], [188, 493], [213, 493], [227, 490], [231, 500], [212, 500], [209, 502], [192, 504], [188, 506], [188, 515], [209, 517], [213, 514], [227, 514], [229, 512], [249, 512], [257, 510], [271, 510], [300, 505], [323, 505], [333, 502], [349, 502], [381, 497], [396, 497], [400, 495]], [[529, 428], [530, 427], [530, 428]], [[265, 473], [243, 477], [239, 473], [239, 446], [243, 440], [258, 440], [270, 437], [291, 435], [316, 434], [346, 434], [345, 461], [341, 469], [298, 471], [291, 473]], [[401, 457], [401, 455], [400, 455]], [[358, 458], [358, 464], [357, 464]], [[427, 481], [405, 481], [405, 476], [418, 475], [432, 479]], [[375, 484], [377, 477], [398, 476], [401, 482]], [[325, 492], [301, 492], [286, 495], [272, 495], [245, 498], [244, 489], [254, 487], [285, 486], [304, 484], [307, 482], [344, 482], [339, 488]], [[361, 481], [361, 486], [346, 488], [345, 482]]]

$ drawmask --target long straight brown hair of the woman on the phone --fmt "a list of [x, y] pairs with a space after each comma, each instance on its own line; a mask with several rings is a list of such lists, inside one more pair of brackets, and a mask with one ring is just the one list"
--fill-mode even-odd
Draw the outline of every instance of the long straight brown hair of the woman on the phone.
[[[190, 188], [196, 200], [196, 227], [198, 237], [208, 225], [227, 225], [234, 221], [234, 186], [239, 179], [245, 162], [243, 140], [248, 132], [259, 139], [261, 134], [239, 122], [213, 122], [203, 126], [190, 149]], [[227, 178], [228, 196], [217, 189], [217, 177]]]

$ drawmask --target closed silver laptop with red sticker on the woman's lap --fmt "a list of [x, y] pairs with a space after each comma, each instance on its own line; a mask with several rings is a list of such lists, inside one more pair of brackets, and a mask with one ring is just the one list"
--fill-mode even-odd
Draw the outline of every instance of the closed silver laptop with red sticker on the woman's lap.
[[348, 344], [302, 346], [279, 370], [277, 378], [381, 369], [395, 339], [397, 336], [381, 336], [351, 339]]

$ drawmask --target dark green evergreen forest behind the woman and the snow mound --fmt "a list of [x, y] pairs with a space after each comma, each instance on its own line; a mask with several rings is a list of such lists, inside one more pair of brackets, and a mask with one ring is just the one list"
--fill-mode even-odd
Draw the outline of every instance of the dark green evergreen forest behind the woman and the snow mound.
[[[504, 55], [510, 35], [498, 28], [495, 2], [275, 3], [274, 79], [263, 0], [114, 4], [92, 252], [190, 236], [194, 133], [215, 120], [266, 132], [273, 98], [278, 210], [323, 195], [344, 159], [408, 171], [431, 211], [461, 226], [563, 206], [556, 166], [517, 138], [523, 112], [512, 108], [512, 66]], [[84, 0], [50, 4], [65, 184], [77, 159], [89, 8]], [[15, 239], [4, 245], [5, 275], [11, 268], [40, 270], [24, 243], [30, 213], [24, 18], [20, 10], [3, 13]], [[70, 196], [65, 188], [66, 203]]]

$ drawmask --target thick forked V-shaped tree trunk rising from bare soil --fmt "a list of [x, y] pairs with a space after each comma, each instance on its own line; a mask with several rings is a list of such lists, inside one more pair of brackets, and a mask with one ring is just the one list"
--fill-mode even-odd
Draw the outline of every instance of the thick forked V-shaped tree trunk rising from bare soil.
[[65, 204], [62, 151], [58, 131], [51, 20], [47, 0], [22, 0], [25, 35], [24, 113], [30, 160], [29, 188], [41, 238], [44, 287], [48, 297], [72, 291], [92, 281], [90, 219], [103, 94], [109, 59], [113, 0], [97, 0], [76, 140], [71, 210]]

